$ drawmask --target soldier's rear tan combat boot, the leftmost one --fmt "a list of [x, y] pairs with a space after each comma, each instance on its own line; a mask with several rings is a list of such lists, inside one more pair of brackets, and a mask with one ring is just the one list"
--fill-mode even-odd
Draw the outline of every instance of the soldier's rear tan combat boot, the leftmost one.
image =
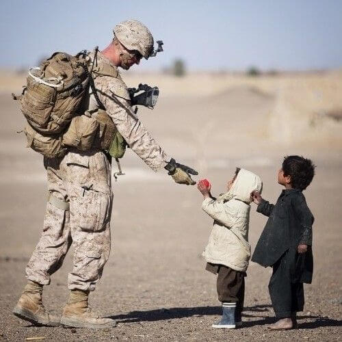
[[42, 304], [42, 285], [29, 280], [13, 310], [14, 315], [38, 326], [59, 326], [60, 318], [50, 315]]

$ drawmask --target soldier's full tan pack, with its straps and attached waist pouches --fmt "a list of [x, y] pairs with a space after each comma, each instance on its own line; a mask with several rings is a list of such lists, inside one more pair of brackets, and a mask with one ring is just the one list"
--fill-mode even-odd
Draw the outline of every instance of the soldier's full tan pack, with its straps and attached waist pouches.
[[[113, 157], [122, 157], [125, 142], [99, 101], [88, 70], [86, 53], [76, 56], [56, 52], [40, 66], [30, 68], [21, 96], [21, 112], [27, 120], [24, 132], [27, 147], [48, 158], [62, 157], [68, 146], [79, 150], [92, 147], [109, 150]], [[114, 70], [97, 70], [98, 75], [115, 77]], [[98, 101], [99, 114], [95, 118], [81, 115], [81, 102], [89, 85]], [[122, 141], [121, 141], [122, 140]]]

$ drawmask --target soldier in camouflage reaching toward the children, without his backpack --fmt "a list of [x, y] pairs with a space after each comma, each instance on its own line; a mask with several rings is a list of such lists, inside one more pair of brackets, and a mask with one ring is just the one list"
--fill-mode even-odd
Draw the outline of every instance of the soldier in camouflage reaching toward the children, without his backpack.
[[[90, 88], [84, 106], [88, 113], [103, 104], [129, 147], [155, 172], [165, 168], [176, 183], [194, 185], [197, 172], [168, 157], [133, 112], [118, 67], [129, 69], [153, 54], [153, 36], [139, 21], [119, 23], [114, 39], [103, 51], [90, 53], [95, 94]], [[96, 95], [97, 93], [97, 95]], [[97, 97], [97, 98], [96, 98]], [[96, 111], [96, 110], [95, 110]], [[49, 200], [40, 241], [26, 267], [27, 285], [14, 315], [46, 326], [107, 328], [113, 319], [100, 318], [88, 306], [90, 291], [101, 278], [110, 251], [111, 165], [101, 148], [70, 148], [64, 157], [47, 159]], [[70, 246], [75, 249], [68, 275], [70, 298], [62, 318], [50, 315], [42, 304], [42, 289], [63, 263]]]

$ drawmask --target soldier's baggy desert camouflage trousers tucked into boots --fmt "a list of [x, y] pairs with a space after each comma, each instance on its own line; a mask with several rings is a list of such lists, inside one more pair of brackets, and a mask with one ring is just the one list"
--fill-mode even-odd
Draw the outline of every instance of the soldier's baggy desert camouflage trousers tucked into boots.
[[27, 279], [42, 285], [62, 266], [71, 245], [73, 270], [68, 289], [92, 291], [110, 252], [110, 164], [101, 150], [71, 150], [44, 159], [49, 200], [40, 241], [26, 267]]

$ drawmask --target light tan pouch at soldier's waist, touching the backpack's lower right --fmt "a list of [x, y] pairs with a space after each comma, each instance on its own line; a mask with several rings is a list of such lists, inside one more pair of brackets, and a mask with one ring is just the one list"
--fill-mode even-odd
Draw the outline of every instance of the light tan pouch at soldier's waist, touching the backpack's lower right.
[[78, 150], [90, 150], [98, 131], [95, 118], [86, 115], [76, 116], [63, 135], [63, 144], [76, 147]]

